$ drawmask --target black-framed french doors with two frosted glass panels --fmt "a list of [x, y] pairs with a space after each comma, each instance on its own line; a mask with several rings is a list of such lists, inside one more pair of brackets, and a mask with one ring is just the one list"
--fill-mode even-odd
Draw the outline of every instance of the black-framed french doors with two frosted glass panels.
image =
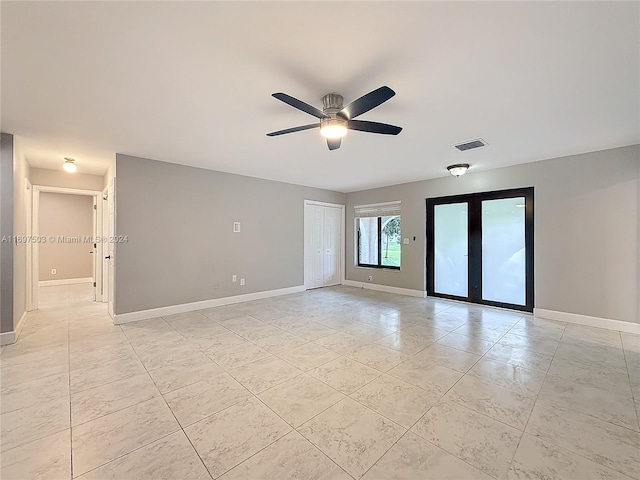
[[533, 187], [427, 199], [427, 294], [533, 311]]

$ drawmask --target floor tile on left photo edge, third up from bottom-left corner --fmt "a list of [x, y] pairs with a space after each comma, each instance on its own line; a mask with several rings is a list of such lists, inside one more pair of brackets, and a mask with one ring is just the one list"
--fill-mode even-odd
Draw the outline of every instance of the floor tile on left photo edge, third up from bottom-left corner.
[[8, 413], [68, 395], [69, 374], [60, 373], [17, 385], [3, 384], [0, 389], [0, 406], [2, 413]]

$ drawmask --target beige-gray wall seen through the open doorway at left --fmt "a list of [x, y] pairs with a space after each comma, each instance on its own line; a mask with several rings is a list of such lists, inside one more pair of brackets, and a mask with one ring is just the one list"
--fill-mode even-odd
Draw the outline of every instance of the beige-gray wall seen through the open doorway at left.
[[[93, 276], [93, 197], [65, 193], [40, 193], [38, 234], [46, 237], [80, 237], [79, 243], [47, 242], [38, 250], [38, 280], [65, 280]], [[51, 274], [51, 269], [56, 274]]]

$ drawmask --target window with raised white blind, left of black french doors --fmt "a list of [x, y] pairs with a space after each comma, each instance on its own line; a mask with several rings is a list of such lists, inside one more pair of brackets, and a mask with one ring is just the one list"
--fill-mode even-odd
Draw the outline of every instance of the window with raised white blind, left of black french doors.
[[400, 202], [355, 207], [358, 266], [400, 269]]

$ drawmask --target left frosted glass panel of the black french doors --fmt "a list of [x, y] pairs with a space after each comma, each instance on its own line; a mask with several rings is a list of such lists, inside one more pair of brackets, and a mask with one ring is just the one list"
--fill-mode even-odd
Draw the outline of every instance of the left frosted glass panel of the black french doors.
[[434, 208], [435, 291], [467, 297], [469, 288], [469, 207], [466, 202]]

